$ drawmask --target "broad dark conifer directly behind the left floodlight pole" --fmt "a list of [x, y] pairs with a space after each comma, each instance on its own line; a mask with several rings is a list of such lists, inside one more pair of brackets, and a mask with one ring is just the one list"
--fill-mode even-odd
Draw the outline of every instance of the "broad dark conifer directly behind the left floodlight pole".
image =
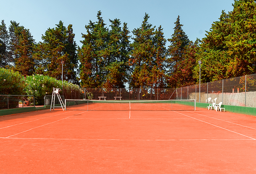
[[45, 74], [56, 79], [62, 77], [69, 82], [77, 83], [76, 71], [77, 56], [76, 43], [74, 43], [72, 25], [67, 28], [60, 21], [55, 28], [48, 28], [42, 35], [43, 42], [35, 46], [34, 59], [36, 59], [36, 72]]

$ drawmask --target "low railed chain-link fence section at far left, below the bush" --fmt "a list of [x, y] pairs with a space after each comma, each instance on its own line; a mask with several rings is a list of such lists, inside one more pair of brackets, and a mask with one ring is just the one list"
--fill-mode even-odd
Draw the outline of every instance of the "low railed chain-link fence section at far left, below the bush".
[[35, 107], [33, 95], [0, 95], [0, 109]]

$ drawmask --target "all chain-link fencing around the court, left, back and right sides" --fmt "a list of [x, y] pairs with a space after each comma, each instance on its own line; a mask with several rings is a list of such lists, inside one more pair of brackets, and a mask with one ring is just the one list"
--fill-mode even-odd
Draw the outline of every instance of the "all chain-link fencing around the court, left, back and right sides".
[[[200, 96], [200, 99], [199, 99]], [[173, 88], [78, 88], [65, 89], [62, 99], [105, 100], [169, 100], [217, 98], [224, 105], [256, 107], [256, 74], [230, 78], [215, 82]], [[52, 96], [44, 97], [44, 104], [51, 105]], [[34, 106], [34, 96], [0, 95], [0, 109]], [[58, 100], [55, 100], [58, 103]]]

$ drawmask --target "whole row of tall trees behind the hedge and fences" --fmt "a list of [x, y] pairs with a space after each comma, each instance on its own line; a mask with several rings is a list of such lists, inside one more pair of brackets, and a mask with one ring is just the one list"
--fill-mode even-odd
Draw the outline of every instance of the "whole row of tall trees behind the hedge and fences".
[[[36, 43], [29, 29], [11, 21], [0, 25], [0, 67], [22, 75], [43, 74], [86, 88], [178, 88], [256, 72], [256, 3], [235, 0], [233, 11], [222, 11], [202, 40], [189, 40], [180, 23], [165, 39], [162, 26], [150, 24], [145, 13], [138, 28], [129, 31], [118, 18], [107, 26], [101, 12], [85, 25], [82, 46], [73, 26], [60, 20]], [[166, 46], [168, 44], [168, 46]]]

